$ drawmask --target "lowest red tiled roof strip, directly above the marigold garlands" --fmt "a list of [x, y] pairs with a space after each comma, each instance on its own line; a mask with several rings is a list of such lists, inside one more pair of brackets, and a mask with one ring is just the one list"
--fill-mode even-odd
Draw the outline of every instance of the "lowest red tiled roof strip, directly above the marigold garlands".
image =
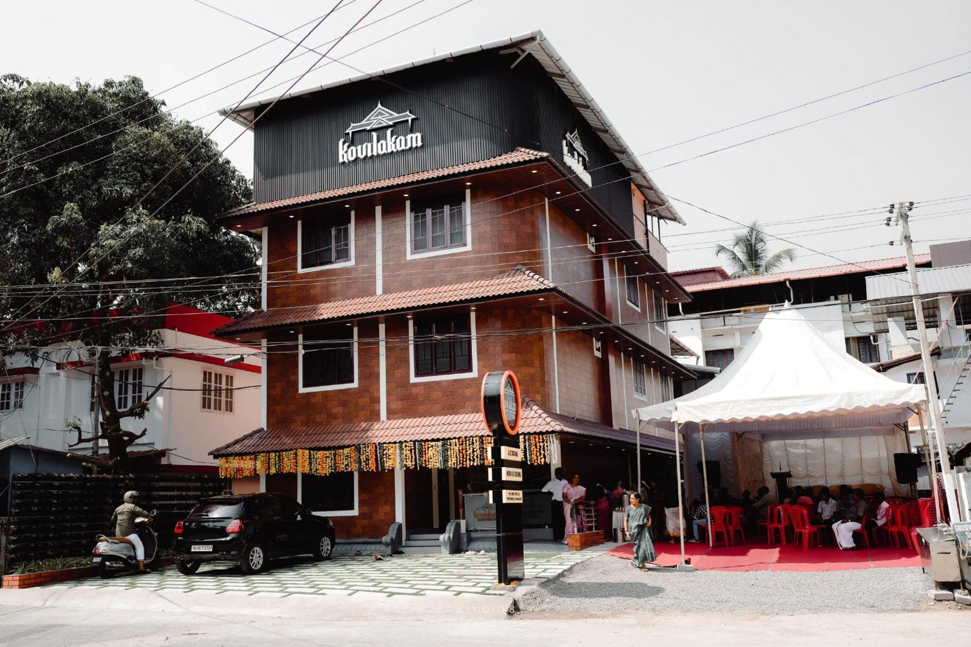
[[[522, 422], [519, 431], [521, 433], [565, 433], [629, 443], [635, 441], [633, 431], [551, 414], [528, 395], [522, 397]], [[367, 443], [445, 440], [485, 435], [488, 434], [485, 432], [482, 414], [476, 412], [342, 425], [258, 428], [214, 449], [210, 454], [216, 457], [234, 456], [294, 449], [330, 449]], [[642, 434], [641, 440], [645, 447], [674, 449], [672, 441], [647, 433]]]

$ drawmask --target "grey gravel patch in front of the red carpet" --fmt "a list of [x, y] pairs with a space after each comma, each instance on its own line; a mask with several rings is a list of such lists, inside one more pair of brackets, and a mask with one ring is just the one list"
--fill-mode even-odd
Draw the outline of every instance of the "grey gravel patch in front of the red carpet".
[[741, 612], [793, 615], [927, 608], [930, 578], [920, 568], [827, 572], [652, 568], [600, 556], [519, 598], [524, 614]]

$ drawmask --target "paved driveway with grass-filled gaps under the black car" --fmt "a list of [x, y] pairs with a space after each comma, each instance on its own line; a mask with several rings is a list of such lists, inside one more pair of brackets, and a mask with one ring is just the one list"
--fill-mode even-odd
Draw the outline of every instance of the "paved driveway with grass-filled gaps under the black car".
[[[577, 562], [599, 553], [526, 553], [526, 577], [553, 577]], [[375, 562], [370, 556], [337, 556], [327, 562], [310, 558], [270, 562], [268, 570], [243, 575], [238, 566], [222, 562], [203, 564], [195, 575], [183, 575], [175, 567], [145, 575], [118, 575], [114, 579], [87, 579], [49, 585], [99, 589], [149, 589], [153, 591], [227, 591], [274, 596], [353, 595], [366, 591], [387, 596], [457, 596], [494, 594], [494, 553], [475, 555], [398, 555]]]

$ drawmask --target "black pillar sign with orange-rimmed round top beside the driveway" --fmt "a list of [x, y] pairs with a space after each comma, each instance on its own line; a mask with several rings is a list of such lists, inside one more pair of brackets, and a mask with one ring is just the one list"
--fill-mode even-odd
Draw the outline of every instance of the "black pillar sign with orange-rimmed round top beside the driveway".
[[495, 371], [483, 378], [482, 411], [485, 428], [494, 437], [489, 468], [489, 497], [495, 504], [495, 547], [498, 580], [512, 584], [525, 577], [522, 560], [522, 452], [519, 422], [522, 401], [512, 371]]

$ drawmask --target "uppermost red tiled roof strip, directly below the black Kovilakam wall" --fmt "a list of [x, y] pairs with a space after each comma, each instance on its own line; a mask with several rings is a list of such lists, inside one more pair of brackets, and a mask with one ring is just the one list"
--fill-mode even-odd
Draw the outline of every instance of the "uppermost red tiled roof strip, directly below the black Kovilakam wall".
[[243, 205], [242, 207], [237, 207], [231, 211], [227, 211], [219, 216], [218, 220], [221, 221], [237, 218], [239, 216], [249, 216], [250, 214], [257, 214], [263, 211], [282, 209], [284, 207], [295, 207], [310, 202], [331, 200], [344, 195], [352, 195], [354, 193], [365, 193], [367, 191], [374, 191], [381, 188], [398, 187], [401, 185], [414, 184], [416, 182], [437, 180], [439, 178], [446, 178], [451, 175], [460, 175], [462, 173], [469, 173], [472, 171], [482, 171], [488, 168], [495, 168], [497, 166], [520, 164], [522, 162], [536, 161], [538, 159], [546, 159], [548, 157], [550, 157], [550, 153], [542, 153], [540, 151], [532, 151], [530, 149], [517, 147], [515, 151], [510, 153], [503, 153], [501, 155], [496, 155], [495, 157], [489, 157], [488, 159], [482, 159], [474, 162], [467, 162], [465, 164], [456, 164], [455, 166], [446, 166], [444, 168], [437, 168], [431, 171], [420, 171], [419, 173], [399, 175], [395, 178], [376, 180], [374, 182], [365, 182], [360, 185], [353, 185], [352, 187], [331, 188], [325, 191], [307, 193], [306, 195], [297, 195], [296, 197], [284, 198], [282, 200], [271, 200], [270, 202], [260, 202], [259, 204], [247, 204]]

